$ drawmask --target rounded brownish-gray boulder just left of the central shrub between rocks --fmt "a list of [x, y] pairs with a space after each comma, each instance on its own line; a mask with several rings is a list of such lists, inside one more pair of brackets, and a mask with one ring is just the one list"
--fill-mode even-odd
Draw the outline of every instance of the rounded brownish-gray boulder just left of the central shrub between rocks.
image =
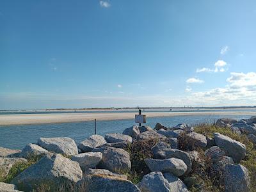
[[129, 172], [131, 169], [130, 155], [122, 148], [101, 147], [93, 149], [93, 152], [102, 153], [102, 161], [99, 167], [111, 172]]

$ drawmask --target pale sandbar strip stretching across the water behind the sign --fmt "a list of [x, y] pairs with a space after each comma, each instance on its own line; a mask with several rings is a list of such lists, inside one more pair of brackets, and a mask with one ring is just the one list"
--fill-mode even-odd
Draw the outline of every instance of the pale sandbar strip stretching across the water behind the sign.
[[[65, 122], [85, 122], [97, 120], [132, 119], [137, 113], [50, 113], [0, 115], [0, 125], [51, 124]], [[205, 112], [145, 112], [147, 117], [187, 116], [187, 115], [255, 115], [252, 111], [205, 111]]]

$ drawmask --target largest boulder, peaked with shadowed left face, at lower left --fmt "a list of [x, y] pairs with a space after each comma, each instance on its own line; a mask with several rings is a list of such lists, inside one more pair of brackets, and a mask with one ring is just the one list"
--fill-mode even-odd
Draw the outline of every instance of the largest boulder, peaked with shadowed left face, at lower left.
[[81, 180], [83, 172], [76, 161], [61, 156], [60, 154], [47, 154], [36, 164], [29, 166], [12, 180], [24, 191], [32, 191], [36, 186], [45, 183], [60, 186], [63, 182], [75, 184]]

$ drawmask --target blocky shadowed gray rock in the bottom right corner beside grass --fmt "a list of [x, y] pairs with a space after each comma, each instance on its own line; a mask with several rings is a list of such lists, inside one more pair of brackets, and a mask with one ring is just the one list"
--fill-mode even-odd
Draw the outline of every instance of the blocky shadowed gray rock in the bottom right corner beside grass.
[[225, 191], [250, 191], [248, 170], [241, 164], [226, 164], [224, 168]]

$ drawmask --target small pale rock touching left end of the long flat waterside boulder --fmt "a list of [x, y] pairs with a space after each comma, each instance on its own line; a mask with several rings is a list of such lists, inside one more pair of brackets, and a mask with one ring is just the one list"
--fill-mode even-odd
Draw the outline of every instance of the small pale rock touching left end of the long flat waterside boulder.
[[45, 150], [44, 148], [36, 144], [29, 143], [20, 152], [20, 157], [29, 158], [29, 157], [35, 157], [35, 156], [44, 156], [47, 153], [48, 151]]

